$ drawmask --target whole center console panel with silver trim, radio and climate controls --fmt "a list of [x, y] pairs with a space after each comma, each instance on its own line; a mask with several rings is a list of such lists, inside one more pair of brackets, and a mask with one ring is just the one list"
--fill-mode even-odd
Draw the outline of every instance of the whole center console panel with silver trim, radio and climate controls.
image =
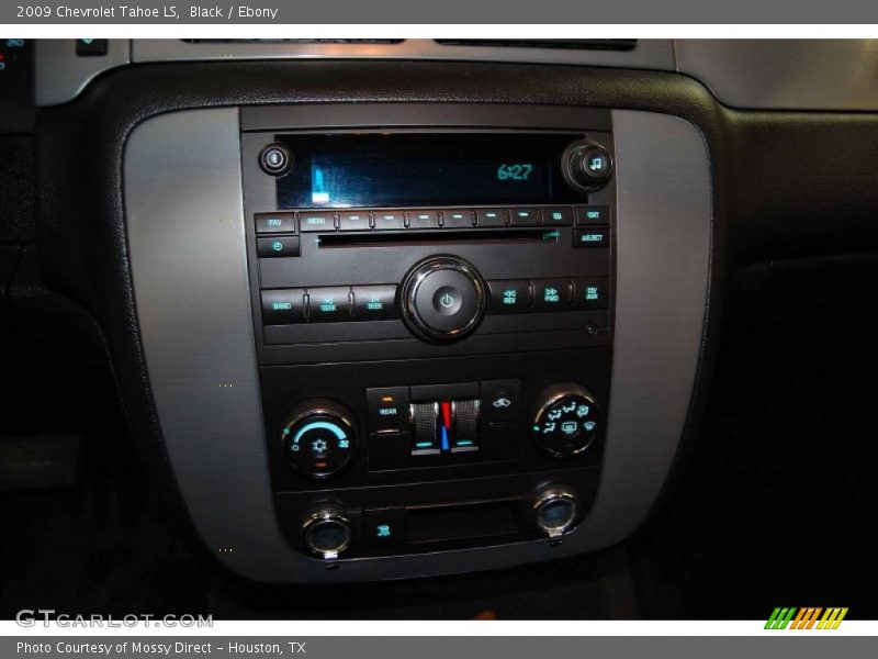
[[244, 107], [137, 127], [151, 390], [201, 535], [269, 581], [608, 546], [676, 454], [710, 255], [682, 120]]

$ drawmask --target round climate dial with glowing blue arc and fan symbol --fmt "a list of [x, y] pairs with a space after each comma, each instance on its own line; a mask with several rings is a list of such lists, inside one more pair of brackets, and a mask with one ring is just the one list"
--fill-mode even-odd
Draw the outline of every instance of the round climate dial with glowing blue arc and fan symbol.
[[326, 400], [297, 405], [281, 427], [286, 463], [306, 478], [324, 479], [344, 470], [357, 451], [351, 414]]

